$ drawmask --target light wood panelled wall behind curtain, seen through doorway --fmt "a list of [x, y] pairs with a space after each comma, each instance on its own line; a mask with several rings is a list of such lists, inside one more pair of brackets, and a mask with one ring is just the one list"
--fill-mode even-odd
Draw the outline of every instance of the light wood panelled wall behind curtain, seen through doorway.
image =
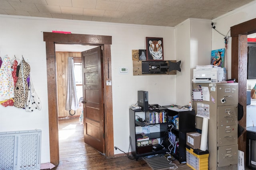
[[[58, 101], [58, 117], [66, 117], [69, 111], [65, 110], [66, 93], [67, 93], [67, 80], [68, 80], [68, 57], [74, 57], [76, 61], [81, 61], [80, 52], [56, 52], [56, 70], [57, 70], [57, 101]], [[76, 116], [81, 115], [82, 107], [76, 110]], [[74, 114], [74, 111], [71, 111]], [[71, 116], [71, 115], [69, 115]]]

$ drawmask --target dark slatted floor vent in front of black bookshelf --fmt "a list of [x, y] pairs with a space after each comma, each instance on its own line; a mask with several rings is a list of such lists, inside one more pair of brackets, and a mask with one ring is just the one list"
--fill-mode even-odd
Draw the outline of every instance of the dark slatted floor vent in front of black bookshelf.
[[170, 167], [173, 165], [170, 164], [170, 161], [164, 155], [157, 155], [150, 158], [144, 158], [147, 162], [148, 166], [152, 168], [152, 170], [170, 170]]

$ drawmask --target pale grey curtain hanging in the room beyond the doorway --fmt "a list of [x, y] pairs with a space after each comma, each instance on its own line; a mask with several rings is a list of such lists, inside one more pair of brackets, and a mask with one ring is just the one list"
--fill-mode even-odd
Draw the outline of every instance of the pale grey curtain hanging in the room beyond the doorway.
[[76, 81], [74, 76], [74, 60], [73, 57], [68, 57], [68, 83], [67, 83], [67, 98], [66, 110], [77, 110], [78, 100], [76, 96]]

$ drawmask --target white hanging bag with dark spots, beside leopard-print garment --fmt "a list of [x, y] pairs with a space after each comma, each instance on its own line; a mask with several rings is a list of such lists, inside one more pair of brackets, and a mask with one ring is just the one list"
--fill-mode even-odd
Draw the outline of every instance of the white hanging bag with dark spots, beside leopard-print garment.
[[26, 104], [26, 111], [34, 111], [36, 109], [41, 110], [41, 101], [39, 97], [36, 94], [36, 91], [34, 89], [32, 79], [30, 76], [30, 83], [29, 83], [29, 88], [28, 88], [28, 99], [27, 99], [27, 104]]

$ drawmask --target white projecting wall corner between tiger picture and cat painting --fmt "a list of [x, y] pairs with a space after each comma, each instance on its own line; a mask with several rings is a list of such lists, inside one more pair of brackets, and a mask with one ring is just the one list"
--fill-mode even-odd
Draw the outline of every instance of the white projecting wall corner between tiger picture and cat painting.
[[175, 27], [176, 60], [182, 61], [176, 76], [176, 102], [191, 102], [193, 68], [208, 65], [211, 59], [211, 20], [190, 18]]

